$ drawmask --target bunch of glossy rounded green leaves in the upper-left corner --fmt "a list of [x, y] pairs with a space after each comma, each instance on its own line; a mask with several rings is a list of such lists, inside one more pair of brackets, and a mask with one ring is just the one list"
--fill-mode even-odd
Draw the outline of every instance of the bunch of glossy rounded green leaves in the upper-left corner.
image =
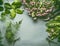
[[[17, 14], [22, 14], [23, 10], [20, 9], [22, 6], [22, 3], [18, 0], [14, 0], [14, 2], [9, 3], [9, 0], [7, 3], [4, 3], [3, 0], [0, 0], [0, 20], [4, 20], [7, 15], [10, 15], [11, 19], [14, 19]], [[3, 6], [3, 7], [2, 7]]]

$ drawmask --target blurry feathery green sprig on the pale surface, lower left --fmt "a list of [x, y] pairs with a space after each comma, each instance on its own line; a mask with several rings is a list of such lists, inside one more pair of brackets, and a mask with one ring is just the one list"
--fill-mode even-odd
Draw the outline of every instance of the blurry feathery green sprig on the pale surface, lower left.
[[18, 32], [18, 28], [20, 26], [22, 21], [17, 22], [16, 24], [9, 23], [6, 29], [5, 38], [7, 40], [7, 43], [9, 46], [14, 46], [16, 41], [18, 41], [20, 38], [16, 37], [16, 34]]

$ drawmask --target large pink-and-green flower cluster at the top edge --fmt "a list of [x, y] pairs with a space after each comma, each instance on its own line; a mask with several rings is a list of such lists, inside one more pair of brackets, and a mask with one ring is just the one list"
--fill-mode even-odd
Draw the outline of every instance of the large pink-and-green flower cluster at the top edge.
[[23, 0], [23, 4], [25, 5], [25, 9], [28, 10], [28, 14], [34, 20], [37, 18], [48, 18], [48, 16], [51, 16], [50, 14], [54, 8], [51, 0]]

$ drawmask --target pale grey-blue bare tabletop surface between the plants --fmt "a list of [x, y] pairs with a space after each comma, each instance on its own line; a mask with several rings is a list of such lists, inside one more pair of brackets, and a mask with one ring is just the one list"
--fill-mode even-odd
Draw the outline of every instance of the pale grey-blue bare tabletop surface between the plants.
[[16, 46], [40, 46], [40, 44], [41, 46], [48, 46], [45, 40], [47, 37], [45, 22], [42, 20], [33, 22], [26, 13], [25, 11], [24, 14], [21, 15], [23, 21], [18, 34], [21, 37], [21, 41], [19, 41]]

